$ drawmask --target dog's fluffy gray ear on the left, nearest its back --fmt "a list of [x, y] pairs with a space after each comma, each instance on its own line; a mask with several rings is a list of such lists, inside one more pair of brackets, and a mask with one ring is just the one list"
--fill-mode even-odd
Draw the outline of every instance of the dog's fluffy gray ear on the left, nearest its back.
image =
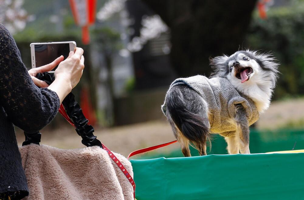
[[211, 77], [226, 77], [229, 74], [229, 69], [227, 66], [228, 56], [217, 56], [214, 58], [209, 58], [210, 65], [213, 69]]

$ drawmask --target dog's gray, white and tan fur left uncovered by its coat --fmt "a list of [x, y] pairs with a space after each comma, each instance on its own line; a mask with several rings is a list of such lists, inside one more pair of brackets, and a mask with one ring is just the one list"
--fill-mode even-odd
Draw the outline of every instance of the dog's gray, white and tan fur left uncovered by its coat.
[[[271, 53], [237, 51], [229, 57], [223, 55], [210, 59], [214, 70], [210, 78], [226, 78], [240, 94], [252, 99], [261, 113], [268, 109], [278, 79], [276, 61]], [[206, 101], [192, 88], [180, 84], [168, 91], [165, 104], [166, 116], [184, 156], [191, 156], [190, 143], [200, 155], [206, 155], [206, 142], [210, 142]], [[235, 114], [229, 122], [236, 127], [236, 135], [225, 137], [228, 153], [250, 153], [249, 124], [243, 106], [236, 105]]]

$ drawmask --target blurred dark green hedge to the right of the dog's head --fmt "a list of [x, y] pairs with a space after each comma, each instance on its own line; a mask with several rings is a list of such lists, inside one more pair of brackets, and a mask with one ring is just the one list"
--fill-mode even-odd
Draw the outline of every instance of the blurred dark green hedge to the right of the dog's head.
[[304, 7], [270, 9], [265, 20], [255, 16], [247, 35], [250, 49], [271, 50], [280, 62], [275, 98], [304, 94]]

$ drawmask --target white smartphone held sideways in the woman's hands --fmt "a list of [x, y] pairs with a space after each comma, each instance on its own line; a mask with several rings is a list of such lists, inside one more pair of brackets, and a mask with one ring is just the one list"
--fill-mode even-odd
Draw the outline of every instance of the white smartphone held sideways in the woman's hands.
[[[31, 60], [32, 68], [41, 67], [53, 62], [56, 58], [63, 55], [64, 60], [68, 57], [70, 51], [76, 50], [76, 42], [46, 42], [46, 43], [31, 43]], [[51, 73], [54, 73], [56, 66]]]

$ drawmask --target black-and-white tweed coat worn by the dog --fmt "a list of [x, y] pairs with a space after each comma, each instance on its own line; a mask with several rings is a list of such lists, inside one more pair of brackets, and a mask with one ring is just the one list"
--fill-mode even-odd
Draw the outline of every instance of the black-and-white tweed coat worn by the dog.
[[[207, 102], [211, 133], [219, 133], [225, 137], [235, 136], [236, 127], [229, 121], [235, 117], [235, 106], [237, 104], [242, 105], [246, 110], [249, 126], [260, 117], [254, 102], [247, 96], [240, 94], [226, 78], [208, 79], [201, 75], [178, 78], [173, 81], [168, 91], [179, 84], [185, 84], [194, 89]], [[166, 98], [161, 109], [165, 114]]]

